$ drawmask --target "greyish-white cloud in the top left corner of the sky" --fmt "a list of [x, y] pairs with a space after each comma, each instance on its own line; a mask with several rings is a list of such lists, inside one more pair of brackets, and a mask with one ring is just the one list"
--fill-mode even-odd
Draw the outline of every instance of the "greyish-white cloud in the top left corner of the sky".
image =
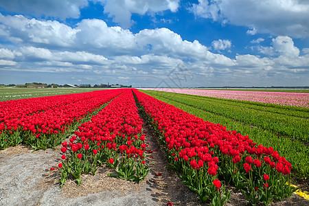
[[10, 12], [32, 14], [38, 18], [52, 16], [59, 19], [79, 18], [80, 8], [87, 5], [88, 0], [1, 1], [1, 7]]

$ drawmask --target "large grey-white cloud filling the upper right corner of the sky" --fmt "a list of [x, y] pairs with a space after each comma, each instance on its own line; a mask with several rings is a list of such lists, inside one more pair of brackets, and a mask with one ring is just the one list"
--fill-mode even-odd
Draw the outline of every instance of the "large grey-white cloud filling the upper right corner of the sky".
[[247, 26], [256, 32], [276, 36], [309, 36], [309, 1], [301, 0], [198, 0], [192, 4], [195, 16], [222, 23]]

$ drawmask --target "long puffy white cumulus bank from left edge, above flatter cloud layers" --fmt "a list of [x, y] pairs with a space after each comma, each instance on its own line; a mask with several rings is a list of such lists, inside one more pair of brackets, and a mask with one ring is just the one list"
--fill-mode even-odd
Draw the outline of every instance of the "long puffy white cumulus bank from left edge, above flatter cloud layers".
[[[24, 16], [0, 14], [0, 36], [12, 43], [37, 47], [74, 48], [103, 55], [142, 55], [150, 53], [172, 54], [198, 58], [205, 56], [207, 47], [198, 41], [183, 41], [179, 34], [160, 28], [141, 30], [133, 34], [122, 27], [108, 27], [99, 19], [84, 19], [72, 28], [58, 21], [39, 21]], [[16, 41], [19, 39], [19, 41]]]

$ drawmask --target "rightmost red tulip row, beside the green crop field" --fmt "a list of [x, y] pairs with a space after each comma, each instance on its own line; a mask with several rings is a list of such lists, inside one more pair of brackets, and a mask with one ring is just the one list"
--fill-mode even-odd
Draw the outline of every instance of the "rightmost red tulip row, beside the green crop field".
[[273, 148], [257, 146], [248, 136], [139, 91], [135, 95], [165, 144], [170, 165], [202, 202], [225, 203], [230, 196], [222, 186], [226, 184], [241, 190], [253, 205], [259, 201], [268, 205], [293, 193], [291, 165]]

